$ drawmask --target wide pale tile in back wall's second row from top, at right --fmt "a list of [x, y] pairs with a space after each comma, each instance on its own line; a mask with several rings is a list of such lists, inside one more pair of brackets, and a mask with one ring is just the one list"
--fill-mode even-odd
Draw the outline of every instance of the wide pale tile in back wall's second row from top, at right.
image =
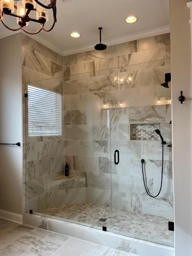
[[156, 48], [152, 50], [146, 50], [142, 52], [135, 52], [129, 54], [129, 65], [151, 62], [154, 60], [164, 60], [165, 58], [165, 48]]

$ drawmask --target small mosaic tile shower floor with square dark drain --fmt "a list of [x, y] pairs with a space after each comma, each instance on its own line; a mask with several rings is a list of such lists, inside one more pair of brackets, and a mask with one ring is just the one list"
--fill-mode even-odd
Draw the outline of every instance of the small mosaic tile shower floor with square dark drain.
[[113, 230], [119, 234], [134, 236], [159, 244], [174, 246], [174, 232], [168, 230], [170, 218], [133, 213], [107, 206], [76, 204], [48, 208], [43, 214], [78, 222], [92, 228]]

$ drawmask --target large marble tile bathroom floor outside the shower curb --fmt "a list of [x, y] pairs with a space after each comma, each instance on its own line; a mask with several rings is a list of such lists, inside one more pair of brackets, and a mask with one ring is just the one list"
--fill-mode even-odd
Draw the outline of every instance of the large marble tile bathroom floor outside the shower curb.
[[[0, 219], [0, 256], [133, 256], [85, 240]], [[136, 256], [134, 254], [134, 256]]]

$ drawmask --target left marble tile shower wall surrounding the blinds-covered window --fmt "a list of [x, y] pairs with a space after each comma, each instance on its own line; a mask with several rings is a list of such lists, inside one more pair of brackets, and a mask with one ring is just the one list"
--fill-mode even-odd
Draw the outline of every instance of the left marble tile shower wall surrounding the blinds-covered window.
[[63, 95], [63, 60], [61, 55], [46, 46], [24, 34], [21, 36], [24, 131], [23, 210], [25, 212], [32, 209], [38, 212], [49, 205], [60, 205], [64, 197], [61, 192], [48, 190], [48, 181], [62, 175], [64, 171], [64, 137], [28, 137], [27, 104], [25, 106], [24, 94], [29, 83]]

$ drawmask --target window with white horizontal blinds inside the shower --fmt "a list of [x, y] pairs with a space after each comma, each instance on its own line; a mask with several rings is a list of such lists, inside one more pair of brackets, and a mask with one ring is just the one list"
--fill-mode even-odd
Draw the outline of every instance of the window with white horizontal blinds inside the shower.
[[62, 135], [62, 95], [28, 85], [28, 136]]

